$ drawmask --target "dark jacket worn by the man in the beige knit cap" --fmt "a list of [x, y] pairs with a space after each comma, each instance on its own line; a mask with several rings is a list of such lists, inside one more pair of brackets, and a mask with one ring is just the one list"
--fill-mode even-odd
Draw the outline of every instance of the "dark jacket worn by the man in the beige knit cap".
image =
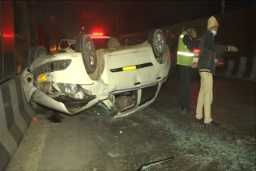
[[214, 43], [214, 34], [206, 30], [202, 35], [200, 42], [200, 54], [198, 60], [198, 71], [215, 72], [215, 55], [214, 53], [230, 51], [230, 46], [221, 46]]

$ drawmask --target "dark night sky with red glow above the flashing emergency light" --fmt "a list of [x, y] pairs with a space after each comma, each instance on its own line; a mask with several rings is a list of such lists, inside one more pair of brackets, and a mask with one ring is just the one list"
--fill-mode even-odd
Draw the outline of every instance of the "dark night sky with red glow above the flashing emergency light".
[[[40, 24], [54, 15], [58, 30], [74, 38], [82, 26], [88, 32], [129, 34], [218, 14], [221, 1], [42, 1], [37, 2]], [[246, 10], [255, 1], [226, 1], [225, 10]], [[43, 25], [42, 24], [42, 25]]]

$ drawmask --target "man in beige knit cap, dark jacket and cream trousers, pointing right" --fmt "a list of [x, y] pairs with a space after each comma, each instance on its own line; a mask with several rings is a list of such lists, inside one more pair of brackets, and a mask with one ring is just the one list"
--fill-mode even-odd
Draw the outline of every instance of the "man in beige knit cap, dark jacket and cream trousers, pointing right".
[[196, 118], [198, 121], [203, 120], [206, 125], [218, 125], [210, 116], [210, 105], [213, 101], [213, 74], [215, 72], [214, 53], [232, 51], [237, 52], [235, 46], [220, 46], [214, 43], [214, 36], [218, 31], [218, 22], [214, 16], [210, 17], [207, 22], [207, 30], [202, 36], [200, 43], [200, 54], [198, 61], [198, 71], [201, 78], [201, 86], [198, 94], [198, 104], [196, 109]]

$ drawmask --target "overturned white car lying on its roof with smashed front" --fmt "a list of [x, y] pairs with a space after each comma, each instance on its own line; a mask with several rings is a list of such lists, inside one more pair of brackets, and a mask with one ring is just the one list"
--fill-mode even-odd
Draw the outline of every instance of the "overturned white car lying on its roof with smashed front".
[[84, 34], [74, 41], [74, 50], [54, 55], [42, 46], [34, 48], [34, 62], [22, 72], [27, 100], [68, 114], [102, 101], [114, 117], [150, 105], [170, 71], [162, 30], [152, 30], [148, 41], [136, 46], [109, 38], [109, 48], [95, 50], [93, 40]]

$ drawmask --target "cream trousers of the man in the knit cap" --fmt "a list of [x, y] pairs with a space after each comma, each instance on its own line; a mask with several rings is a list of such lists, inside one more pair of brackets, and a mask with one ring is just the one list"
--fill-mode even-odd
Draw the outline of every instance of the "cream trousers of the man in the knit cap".
[[197, 114], [198, 119], [202, 119], [203, 109], [205, 114], [205, 123], [212, 121], [210, 116], [210, 105], [213, 101], [213, 74], [207, 72], [200, 73], [201, 85], [198, 94]]

